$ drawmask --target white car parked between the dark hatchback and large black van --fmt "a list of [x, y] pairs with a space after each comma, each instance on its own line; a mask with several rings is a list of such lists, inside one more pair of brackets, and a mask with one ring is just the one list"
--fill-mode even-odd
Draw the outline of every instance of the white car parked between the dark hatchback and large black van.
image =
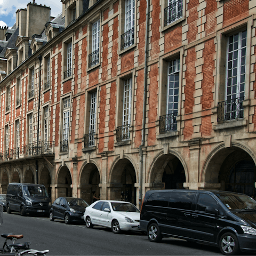
[[121, 230], [140, 230], [140, 211], [129, 202], [100, 200], [86, 207], [84, 221], [87, 228], [108, 227], [119, 234]]

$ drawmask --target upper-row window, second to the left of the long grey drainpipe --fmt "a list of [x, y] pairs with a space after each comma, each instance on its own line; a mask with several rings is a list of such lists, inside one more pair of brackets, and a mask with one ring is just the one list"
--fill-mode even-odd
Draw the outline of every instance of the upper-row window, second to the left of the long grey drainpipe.
[[92, 47], [91, 54], [89, 54], [88, 67], [91, 68], [99, 63], [100, 50], [100, 20], [92, 24]]

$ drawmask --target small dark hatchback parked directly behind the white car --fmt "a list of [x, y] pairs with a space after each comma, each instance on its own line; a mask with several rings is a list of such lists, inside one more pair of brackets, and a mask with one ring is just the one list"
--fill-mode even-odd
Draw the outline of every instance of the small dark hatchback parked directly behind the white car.
[[84, 199], [76, 197], [59, 197], [52, 204], [50, 221], [54, 219], [65, 220], [66, 224], [71, 221], [83, 221], [83, 215], [89, 204]]

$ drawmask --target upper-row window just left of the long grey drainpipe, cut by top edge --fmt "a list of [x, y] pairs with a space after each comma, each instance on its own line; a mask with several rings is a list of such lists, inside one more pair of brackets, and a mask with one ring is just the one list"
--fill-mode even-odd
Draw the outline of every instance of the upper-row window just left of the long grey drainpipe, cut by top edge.
[[134, 44], [135, 1], [125, 0], [124, 34], [121, 35], [121, 50]]

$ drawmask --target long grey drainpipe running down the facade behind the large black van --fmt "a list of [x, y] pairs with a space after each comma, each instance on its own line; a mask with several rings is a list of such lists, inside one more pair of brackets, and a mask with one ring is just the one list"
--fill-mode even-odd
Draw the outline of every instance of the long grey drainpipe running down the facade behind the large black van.
[[149, 21], [149, 1], [147, 0], [146, 9], [146, 33], [145, 33], [145, 68], [144, 68], [144, 94], [143, 94], [143, 118], [140, 145], [140, 184], [139, 184], [139, 205], [142, 203], [142, 170], [143, 170], [143, 153], [142, 147], [145, 146], [145, 123], [146, 123], [146, 99], [147, 99], [147, 75], [148, 75], [148, 21]]

